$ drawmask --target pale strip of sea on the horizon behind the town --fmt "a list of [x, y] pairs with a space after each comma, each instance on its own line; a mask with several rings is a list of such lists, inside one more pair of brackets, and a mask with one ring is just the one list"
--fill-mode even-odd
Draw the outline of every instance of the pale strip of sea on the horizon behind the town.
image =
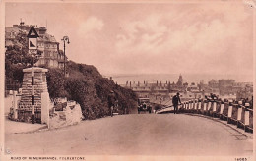
[[203, 81], [204, 83], [208, 83], [210, 80], [235, 80], [235, 82], [253, 82], [252, 75], [209, 75], [209, 74], [108, 74], [104, 75], [106, 78], [112, 77], [114, 82], [118, 84], [125, 84], [126, 81], [135, 81], [138, 83], [140, 81], [143, 83], [144, 81], [157, 82], [161, 81], [161, 83], [166, 83], [166, 81], [177, 82], [179, 75], [182, 76], [183, 82], [188, 82], [189, 84], [192, 82], [199, 83]]

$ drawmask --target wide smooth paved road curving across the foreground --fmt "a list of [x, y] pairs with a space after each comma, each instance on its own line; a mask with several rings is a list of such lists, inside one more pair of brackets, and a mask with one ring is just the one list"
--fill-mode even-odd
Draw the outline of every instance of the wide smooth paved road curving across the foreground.
[[252, 139], [206, 118], [133, 114], [33, 134], [6, 134], [12, 154], [251, 155]]

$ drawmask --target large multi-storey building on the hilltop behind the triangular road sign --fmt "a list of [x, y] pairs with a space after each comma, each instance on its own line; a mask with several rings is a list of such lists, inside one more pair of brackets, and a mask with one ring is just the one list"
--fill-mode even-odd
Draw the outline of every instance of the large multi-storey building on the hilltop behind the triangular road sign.
[[[25, 25], [21, 22], [19, 25], [13, 25], [13, 27], [5, 28], [5, 45], [18, 45], [17, 35], [28, 34], [32, 25]], [[46, 68], [63, 68], [64, 67], [64, 53], [59, 50], [59, 42], [56, 41], [55, 37], [47, 33], [46, 27], [33, 26], [39, 37], [37, 38], [38, 50], [42, 52], [41, 57], [36, 62], [36, 66], [44, 66]], [[22, 46], [21, 46], [22, 47]], [[67, 58], [66, 58], [67, 60]]]

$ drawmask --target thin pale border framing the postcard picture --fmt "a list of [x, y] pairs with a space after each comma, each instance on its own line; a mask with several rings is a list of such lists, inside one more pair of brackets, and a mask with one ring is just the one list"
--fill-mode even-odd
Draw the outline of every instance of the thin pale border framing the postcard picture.
[[[228, 2], [240, 2], [239, 0], [224, 0], [218, 1], [215, 0], [0, 0], [0, 147], [1, 147], [1, 158], [0, 160], [6, 161], [10, 159], [10, 156], [6, 156], [4, 154], [4, 59], [5, 59], [5, 4], [6, 3], [228, 3]], [[255, 4], [253, 10], [253, 95], [256, 95], [256, 17], [255, 17], [255, 10], [256, 10], [256, 0], [243, 0], [244, 3], [253, 3]], [[254, 107], [256, 107], [256, 98], [254, 96]], [[255, 120], [256, 111], [254, 110], [254, 125], [256, 125]], [[249, 160], [256, 159], [256, 144], [255, 144], [255, 126], [254, 126], [254, 140], [253, 140], [253, 157], [248, 158]], [[25, 155], [21, 155], [25, 156]], [[68, 155], [65, 155], [66, 157]], [[49, 156], [50, 157], [50, 156]], [[59, 156], [57, 156], [59, 157]], [[240, 156], [238, 156], [240, 157]], [[223, 160], [235, 160], [235, 156], [224, 156], [224, 157], [215, 157], [215, 156], [94, 156], [89, 155], [85, 156], [85, 159], [88, 160], [209, 160], [209, 161], [223, 161]]]

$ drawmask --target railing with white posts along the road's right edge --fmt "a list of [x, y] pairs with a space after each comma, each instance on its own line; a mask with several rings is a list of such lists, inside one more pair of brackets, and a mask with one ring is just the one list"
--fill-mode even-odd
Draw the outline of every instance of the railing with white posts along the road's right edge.
[[219, 118], [227, 124], [244, 129], [245, 132], [253, 133], [253, 108], [250, 103], [193, 99], [182, 102], [178, 110], [180, 113], [195, 113]]

